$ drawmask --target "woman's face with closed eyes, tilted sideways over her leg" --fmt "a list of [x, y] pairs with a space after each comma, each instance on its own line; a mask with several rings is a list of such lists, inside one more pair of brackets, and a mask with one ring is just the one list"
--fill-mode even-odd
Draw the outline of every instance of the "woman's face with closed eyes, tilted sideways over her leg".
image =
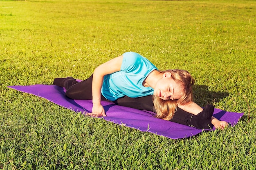
[[[165, 74], [165, 73], [164, 73]], [[181, 98], [183, 86], [181, 83], [176, 83], [171, 76], [164, 75], [154, 89], [154, 95], [163, 100], [178, 100]]]

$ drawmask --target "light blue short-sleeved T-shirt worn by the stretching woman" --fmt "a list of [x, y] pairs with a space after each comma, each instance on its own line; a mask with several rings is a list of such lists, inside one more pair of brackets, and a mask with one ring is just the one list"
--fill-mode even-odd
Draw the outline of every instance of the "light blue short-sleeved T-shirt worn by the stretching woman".
[[101, 94], [115, 101], [123, 96], [137, 98], [152, 95], [154, 89], [144, 87], [143, 81], [153, 70], [157, 70], [148, 59], [136, 52], [126, 52], [121, 70], [104, 76]]

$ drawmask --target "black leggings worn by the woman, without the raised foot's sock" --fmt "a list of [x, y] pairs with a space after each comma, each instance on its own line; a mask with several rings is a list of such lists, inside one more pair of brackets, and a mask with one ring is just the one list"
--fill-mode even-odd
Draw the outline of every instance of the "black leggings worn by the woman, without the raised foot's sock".
[[[92, 77], [93, 74], [92, 76], [90, 76], [90, 78], [81, 82], [76, 81], [72, 77], [55, 78], [54, 85], [65, 87], [65, 89], [67, 90], [66, 96], [69, 98], [77, 100], [92, 100]], [[110, 101], [102, 95], [101, 100]], [[130, 98], [128, 96], [124, 96], [112, 102], [120, 106], [131, 107], [139, 110], [154, 111], [152, 95], [139, 98]], [[194, 123], [191, 122], [192, 116], [193, 114], [186, 112], [178, 107], [177, 111], [175, 112], [173, 118], [170, 121], [185, 125], [193, 125]]]

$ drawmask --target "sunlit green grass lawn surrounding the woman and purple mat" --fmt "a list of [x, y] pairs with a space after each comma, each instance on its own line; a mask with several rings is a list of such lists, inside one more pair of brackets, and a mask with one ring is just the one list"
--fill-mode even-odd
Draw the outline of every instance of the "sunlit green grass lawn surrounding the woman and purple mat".
[[[255, 169], [255, 11], [253, 0], [0, 0], [0, 168]], [[7, 88], [88, 78], [126, 51], [189, 70], [195, 102], [244, 116], [173, 140]]]

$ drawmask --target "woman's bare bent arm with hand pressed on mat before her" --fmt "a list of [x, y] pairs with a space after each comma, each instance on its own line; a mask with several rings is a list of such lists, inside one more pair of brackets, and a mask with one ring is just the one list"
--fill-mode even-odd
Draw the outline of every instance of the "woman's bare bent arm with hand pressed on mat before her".
[[92, 113], [89, 116], [107, 116], [103, 106], [101, 105], [101, 88], [103, 78], [107, 74], [118, 72], [121, 70], [123, 56], [116, 57], [106, 63], [101, 64], [93, 72], [92, 78]]

